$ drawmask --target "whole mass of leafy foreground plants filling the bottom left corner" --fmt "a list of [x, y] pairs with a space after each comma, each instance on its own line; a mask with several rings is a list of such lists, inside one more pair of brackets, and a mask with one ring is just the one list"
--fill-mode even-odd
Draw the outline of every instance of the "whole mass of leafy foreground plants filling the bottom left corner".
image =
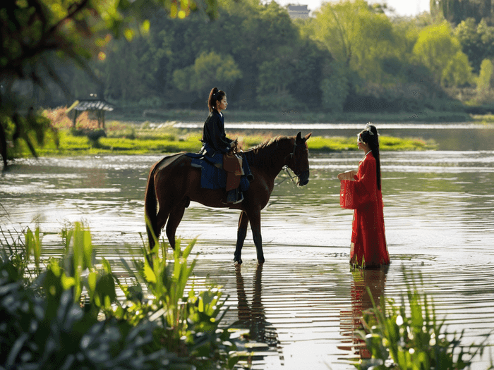
[[[63, 256], [45, 257], [42, 232], [1, 233], [2, 369], [232, 369], [239, 335], [221, 328], [217, 286], [193, 287], [195, 241], [121, 259], [95, 253], [90, 230], [61, 231]], [[158, 250], [159, 249], [159, 250]], [[117, 299], [117, 292], [123, 292]]]

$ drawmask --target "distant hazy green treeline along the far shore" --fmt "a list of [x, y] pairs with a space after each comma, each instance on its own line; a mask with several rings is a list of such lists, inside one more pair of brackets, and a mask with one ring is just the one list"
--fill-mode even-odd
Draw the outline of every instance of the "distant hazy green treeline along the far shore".
[[[432, 13], [416, 18], [392, 16], [363, 0], [327, 2], [306, 20], [259, 0], [219, 0], [216, 20], [200, 12], [171, 19], [156, 11], [149, 27], [121, 39], [103, 35], [90, 73], [68, 63], [56, 70], [71, 97], [97, 94], [119, 107], [205, 109], [214, 86], [244, 110], [394, 112], [493, 104], [490, 0], [478, 8], [483, 13], [473, 7], [467, 19], [454, 13], [454, 1], [432, 2]], [[60, 89], [34, 95], [44, 106], [71, 104]]]

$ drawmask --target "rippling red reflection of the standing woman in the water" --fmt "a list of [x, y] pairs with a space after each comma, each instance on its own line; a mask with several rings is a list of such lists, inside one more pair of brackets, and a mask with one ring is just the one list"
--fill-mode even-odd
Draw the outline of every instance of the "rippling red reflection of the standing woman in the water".
[[363, 328], [361, 323], [362, 312], [373, 307], [367, 288], [372, 299], [379, 304], [380, 297], [384, 295], [388, 266], [380, 269], [356, 269], [352, 271], [351, 283], [351, 311], [340, 312], [341, 333], [347, 340], [342, 341], [348, 345], [338, 346], [340, 350], [351, 352], [359, 359], [370, 359], [365, 341], [356, 335], [356, 331]]

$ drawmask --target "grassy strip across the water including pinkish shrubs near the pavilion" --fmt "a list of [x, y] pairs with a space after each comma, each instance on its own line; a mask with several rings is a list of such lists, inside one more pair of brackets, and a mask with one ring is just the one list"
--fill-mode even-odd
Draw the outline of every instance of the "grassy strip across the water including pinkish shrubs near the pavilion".
[[[201, 147], [201, 133], [173, 127], [173, 122], [140, 124], [108, 121], [105, 130], [97, 128], [97, 121], [88, 118], [88, 112], [78, 118], [73, 128], [64, 109], [45, 111], [44, 117], [50, 122], [44, 145], [34, 144], [39, 156], [71, 156], [81, 154], [158, 154], [174, 152], [198, 152]], [[296, 125], [294, 125], [296, 130]], [[228, 132], [229, 137], [239, 140], [244, 150], [255, 147], [273, 135], [248, 135], [243, 132]], [[308, 141], [311, 152], [335, 152], [357, 150], [355, 137], [313, 136]], [[433, 140], [421, 138], [399, 138], [380, 136], [380, 149], [386, 150], [429, 150], [435, 149]], [[12, 158], [30, 156], [32, 148], [26, 142], [16, 142], [9, 148]]]

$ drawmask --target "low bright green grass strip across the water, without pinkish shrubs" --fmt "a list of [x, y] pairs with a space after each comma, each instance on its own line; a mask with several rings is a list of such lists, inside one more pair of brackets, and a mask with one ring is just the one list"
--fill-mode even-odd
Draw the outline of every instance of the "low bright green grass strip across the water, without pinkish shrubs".
[[[43, 147], [37, 147], [39, 156], [73, 156], [81, 154], [153, 154], [173, 152], [198, 152], [201, 147], [200, 133], [186, 132], [163, 126], [161, 128], [131, 127], [112, 122], [107, 125], [106, 136], [98, 137], [94, 130], [58, 131], [59, 145], [55, 135], [49, 132]], [[241, 147], [247, 150], [270, 138], [269, 135], [249, 135], [229, 132], [229, 137], [238, 138]], [[308, 141], [311, 152], [337, 152], [356, 150], [355, 137], [311, 137]], [[382, 135], [380, 149], [386, 150], [427, 150], [435, 149], [433, 141], [418, 138], [398, 138]], [[28, 147], [21, 143], [16, 148], [18, 156], [30, 156]]]

